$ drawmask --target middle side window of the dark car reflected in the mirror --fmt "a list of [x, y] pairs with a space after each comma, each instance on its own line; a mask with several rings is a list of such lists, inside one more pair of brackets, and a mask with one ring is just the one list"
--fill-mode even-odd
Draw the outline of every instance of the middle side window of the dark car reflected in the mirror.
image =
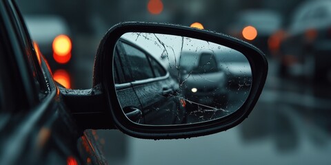
[[133, 80], [154, 77], [146, 54], [126, 43], [123, 43], [123, 50], [128, 58]]

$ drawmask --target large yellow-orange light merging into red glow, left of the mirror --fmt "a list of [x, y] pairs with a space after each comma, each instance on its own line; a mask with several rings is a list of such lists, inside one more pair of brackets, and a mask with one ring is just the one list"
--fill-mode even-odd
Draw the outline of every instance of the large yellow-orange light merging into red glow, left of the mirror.
[[55, 37], [53, 44], [53, 58], [57, 63], [68, 63], [71, 58], [72, 43], [70, 38], [64, 34]]

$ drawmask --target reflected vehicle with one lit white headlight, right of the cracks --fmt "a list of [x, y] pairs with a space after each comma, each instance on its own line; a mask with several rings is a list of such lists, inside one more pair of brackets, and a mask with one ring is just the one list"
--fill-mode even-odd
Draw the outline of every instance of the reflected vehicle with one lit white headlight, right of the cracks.
[[180, 85], [188, 102], [219, 108], [228, 101], [228, 78], [212, 52], [182, 52], [180, 59]]

